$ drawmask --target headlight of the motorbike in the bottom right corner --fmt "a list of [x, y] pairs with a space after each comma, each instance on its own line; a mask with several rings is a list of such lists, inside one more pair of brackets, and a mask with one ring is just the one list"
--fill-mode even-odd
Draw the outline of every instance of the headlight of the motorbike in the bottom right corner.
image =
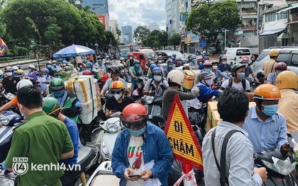
[[282, 175], [289, 175], [289, 173], [292, 172], [293, 167], [295, 167], [295, 165], [291, 163], [289, 157], [287, 157], [283, 161], [280, 158], [275, 158], [274, 156], [272, 156], [273, 163], [264, 160], [262, 161], [265, 164], [265, 166], [267, 166], [267, 168], [270, 168], [271, 170], [274, 170], [275, 172], [280, 173]]

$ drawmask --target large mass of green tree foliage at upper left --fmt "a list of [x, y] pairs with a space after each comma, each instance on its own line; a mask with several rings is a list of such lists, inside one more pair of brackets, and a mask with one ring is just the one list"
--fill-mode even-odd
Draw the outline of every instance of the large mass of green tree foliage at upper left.
[[[74, 3], [72, 1], [72, 3]], [[94, 13], [79, 10], [67, 1], [21, 0], [7, 1], [0, 12], [1, 24], [6, 25], [4, 40], [11, 46], [30, 49], [31, 42], [56, 52], [60, 47], [94, 44], [104, 45], [104, 25]], [[12, 50], [15, 53], [15, 50]]]

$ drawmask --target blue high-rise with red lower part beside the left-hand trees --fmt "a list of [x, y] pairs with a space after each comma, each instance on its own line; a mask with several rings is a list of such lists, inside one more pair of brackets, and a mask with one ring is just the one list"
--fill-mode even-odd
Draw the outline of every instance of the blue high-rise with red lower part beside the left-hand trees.
[[84, 0], [82, 6], [90, 6], [90, 11], [94, 11], [99, 21], [105, 25], [105, 30], [109, 30], [109, 5], [108, 0]]

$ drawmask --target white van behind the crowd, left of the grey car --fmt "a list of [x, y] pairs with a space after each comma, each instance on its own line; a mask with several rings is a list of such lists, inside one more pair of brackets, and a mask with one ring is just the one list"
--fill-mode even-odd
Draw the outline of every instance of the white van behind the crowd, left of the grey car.
[[249, 58], [249, 62], [251, 63], [252, 55], [249, 48], [245, 47], [237, 47], [237, 48], [227, 48], [223, 51], [223, 54], [226, 56], [228, 60], [228, 64], [237, 64], [241, 61], [241, 58], [246, 56]]

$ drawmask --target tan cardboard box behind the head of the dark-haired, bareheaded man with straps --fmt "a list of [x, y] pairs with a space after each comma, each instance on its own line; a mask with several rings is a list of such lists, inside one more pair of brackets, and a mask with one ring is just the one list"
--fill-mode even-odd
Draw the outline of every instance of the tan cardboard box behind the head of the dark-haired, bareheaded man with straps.
[[[255, 105], [255, 102], [250, 102], [249, 107], [253, 107]], [[217, 126], [217, 123], [219, 120], [221, 120], [219, 112], [217, 111], [217, 101], [214, 102], [208, 102], [208, 108], [207, 108], [207, 123], [206, 123], [206, 132], [209, 132], [209, 130], [213, 127]]]

